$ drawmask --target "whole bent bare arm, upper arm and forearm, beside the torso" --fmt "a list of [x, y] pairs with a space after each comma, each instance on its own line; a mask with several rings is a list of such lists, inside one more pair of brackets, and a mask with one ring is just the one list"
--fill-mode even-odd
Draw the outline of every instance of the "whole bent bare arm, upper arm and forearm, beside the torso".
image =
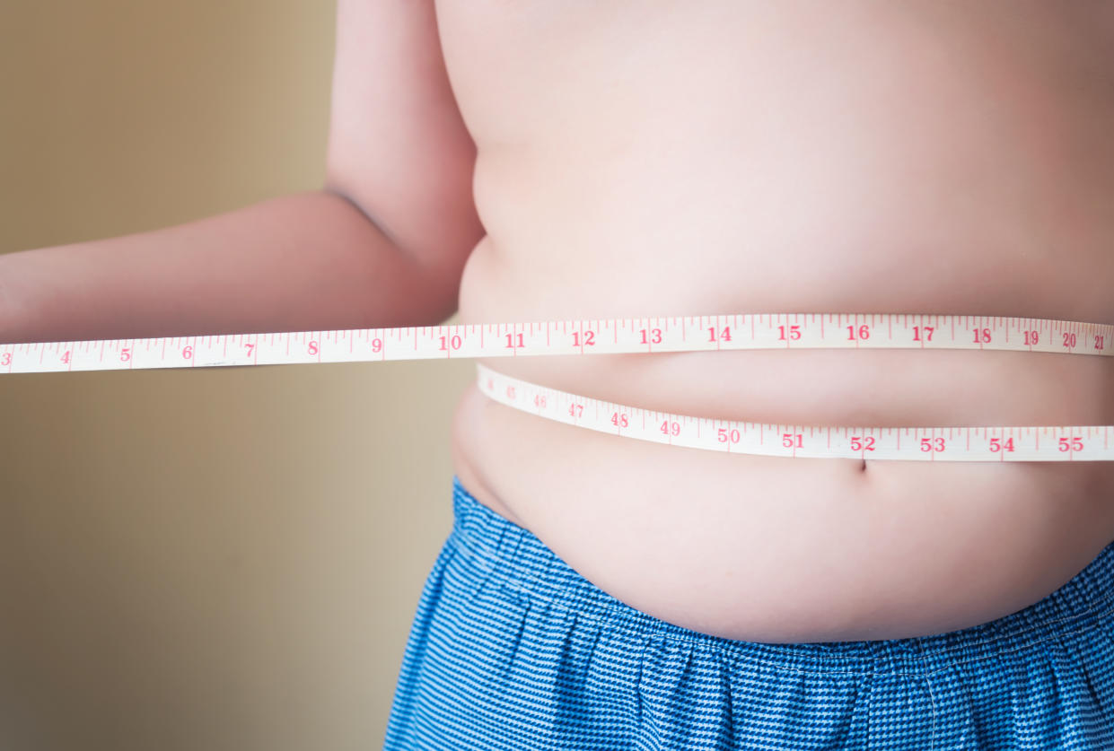
[[437, 323], [482, 236], [473, 163], [432, 0], [340, 0], [324, 188], [0, 255], [0, 341]]

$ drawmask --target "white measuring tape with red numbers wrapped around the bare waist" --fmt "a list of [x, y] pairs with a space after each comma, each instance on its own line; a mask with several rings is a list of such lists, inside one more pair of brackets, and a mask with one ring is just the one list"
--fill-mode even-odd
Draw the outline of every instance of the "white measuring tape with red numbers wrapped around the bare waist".
[[[1114, 354], [1114, 325], [1046, 319], [774, 313], [456, 324], [0, 344], [0, 373], [768, 349], [960, 349]], [[672, 414], [557, 391], [477, 363], [504, 404], [593, 430], [762, 456], [1111, 461], [1114, 426], [802, 427]]]

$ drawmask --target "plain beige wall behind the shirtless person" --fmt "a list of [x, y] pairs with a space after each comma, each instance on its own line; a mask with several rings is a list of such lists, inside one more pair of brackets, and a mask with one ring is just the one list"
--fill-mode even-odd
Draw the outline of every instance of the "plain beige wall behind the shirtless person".
[[[0, 252], [320, 187], [333, 11], [3, 0]], [[471, 368], [0, 377], [0, 749], [380, 748]]]

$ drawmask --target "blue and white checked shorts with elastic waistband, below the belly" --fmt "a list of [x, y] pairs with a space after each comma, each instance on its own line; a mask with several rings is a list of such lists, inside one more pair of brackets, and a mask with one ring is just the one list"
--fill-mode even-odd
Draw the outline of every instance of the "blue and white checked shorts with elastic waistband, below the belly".
[[1114, 749], [1114, 544], [916, 638], [761, 644], [618, 602], [453, 478], [387, 749]]

